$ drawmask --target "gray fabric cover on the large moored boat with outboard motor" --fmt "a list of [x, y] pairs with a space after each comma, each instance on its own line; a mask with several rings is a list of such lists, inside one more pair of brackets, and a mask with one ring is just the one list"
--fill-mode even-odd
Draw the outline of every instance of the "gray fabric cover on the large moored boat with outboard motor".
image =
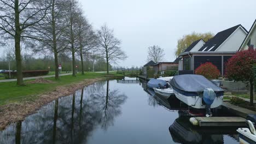
[[170, 85], [185, 92], [203, 92], [205, 88], [212, 88], [214, 92], [224, 91], [202, 75], [177, 75], [172, 78]]

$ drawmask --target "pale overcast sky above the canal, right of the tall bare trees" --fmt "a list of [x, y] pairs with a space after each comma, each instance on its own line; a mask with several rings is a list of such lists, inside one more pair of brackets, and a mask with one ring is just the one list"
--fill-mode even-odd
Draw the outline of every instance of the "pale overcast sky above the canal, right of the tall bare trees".
[[120, 66], [146, 64], [147, 47], [159, 45], [173, 61], [184, 34], [212, 32], [241, 24], [247, 31], [256, 19], [256, 1], [246, 0], [79, 0], [95, 29], [107, 23], [121, 39], [128, 58]]

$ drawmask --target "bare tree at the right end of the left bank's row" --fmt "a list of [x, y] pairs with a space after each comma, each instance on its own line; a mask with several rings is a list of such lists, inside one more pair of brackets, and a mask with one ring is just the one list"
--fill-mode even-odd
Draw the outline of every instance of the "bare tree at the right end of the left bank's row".
[[105, 24], [97, 31], [98, 35], [98, 53], [106, 58], [107, 74], [109, 74], [109, 62], [117, 62], [127, 58], [125, 52], [121, 50], [121, 41], [114, 37], [113, 30]]

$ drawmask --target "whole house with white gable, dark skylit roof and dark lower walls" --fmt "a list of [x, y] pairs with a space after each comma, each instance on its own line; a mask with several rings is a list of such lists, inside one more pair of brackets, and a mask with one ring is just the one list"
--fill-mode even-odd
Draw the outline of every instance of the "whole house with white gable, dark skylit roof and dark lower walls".
[[[192, 46], [190, 45], [192, 48], [189, 46], [188, 49], [179, 55], [179, 70], [181, 70], [179, 73], [194, 73], [194, 70], [201, 64], [211, 62], [216, 65], [220, 74], [224, 75], [225, 62], [240, 49], [247, 33], [247, 30], [242, 25], [237, 25], [218, 32], [213, 38], [202, 45], [200, 49], [193, 45], [196, 43], [195, 41], [191, 44]], [[200, 45], [202, 42], [197, 44]]]

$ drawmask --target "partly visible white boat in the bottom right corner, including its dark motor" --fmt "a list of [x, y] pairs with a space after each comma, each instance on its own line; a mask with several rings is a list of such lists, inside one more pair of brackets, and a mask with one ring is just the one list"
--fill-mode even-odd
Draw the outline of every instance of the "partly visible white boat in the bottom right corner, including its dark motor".
[[256, 144], [256, 130], [254, 128], [254, 125], [251, 121], [247, 120], [247, 123], [249, 125], [248, 128], [238, 128], [236, 131], [239, 135], [239, 141], [240, 143], [254, 143]]

